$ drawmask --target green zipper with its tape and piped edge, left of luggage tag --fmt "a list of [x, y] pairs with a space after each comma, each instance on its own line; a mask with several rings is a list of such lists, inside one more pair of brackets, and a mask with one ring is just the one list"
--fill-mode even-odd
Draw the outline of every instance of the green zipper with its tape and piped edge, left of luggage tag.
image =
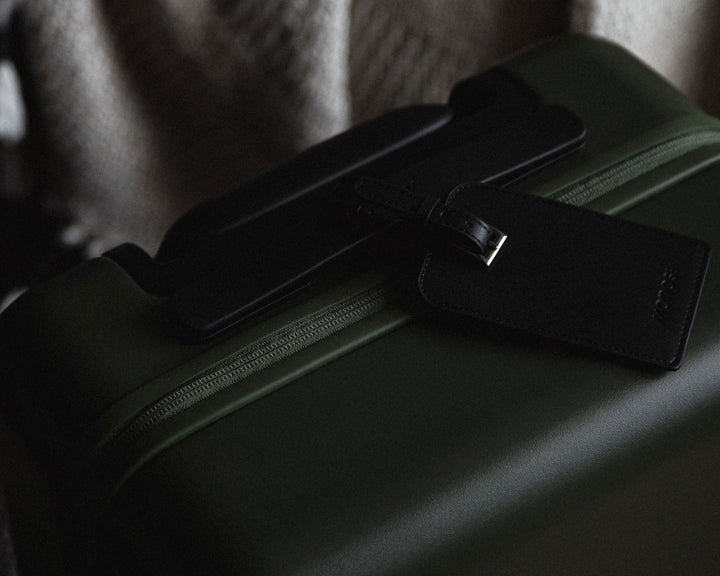
[[[95, 446], [78, 478], [80, 489], [73, 490], [78, 507], [88, 518], [97, 518], [136, 470], [170, 446], [411, 321], [416, 313], [393, 305], [397, 300], [394, 283], [375, 283], [241, 347], [162, 395]], [[341, 332], [346, 336], [340, 338]], [[303, 357], [314, 345], [321, 348]], [[297, 362], [288, 367], [284, 361], [294, 358]], [[216, 396], [222, 402], [208, 406]], [[194, 406], [202, 406], [203, 412], [192, 412]], [[186, 412], [190, 416], [183, 419]]]

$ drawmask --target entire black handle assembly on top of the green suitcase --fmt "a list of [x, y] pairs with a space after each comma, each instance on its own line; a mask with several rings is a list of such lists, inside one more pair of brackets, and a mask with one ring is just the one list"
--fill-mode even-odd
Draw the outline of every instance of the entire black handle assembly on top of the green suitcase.
[[359, 178], [443, 198], [459, 182], [507, 185], [582, 147], [572, 112], [545, 106], [491, 70], [459, 83], [449, 105], [412, 106], [353, 128], [193, 209], [158, 255], [106, 254], [169, 299], [183, 333], [206, 339], [303, 291], [318, 269], [382, 237], [394, 222], [348, 218]]

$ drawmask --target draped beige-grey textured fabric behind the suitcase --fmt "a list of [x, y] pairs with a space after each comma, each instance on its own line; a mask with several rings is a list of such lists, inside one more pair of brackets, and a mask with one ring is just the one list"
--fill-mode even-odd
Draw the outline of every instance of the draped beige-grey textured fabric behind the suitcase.
[[625, 45], [720, 111], [716, 0], [16, 0], [44, 201], [153, 250], [198, 201], [551, 35]]

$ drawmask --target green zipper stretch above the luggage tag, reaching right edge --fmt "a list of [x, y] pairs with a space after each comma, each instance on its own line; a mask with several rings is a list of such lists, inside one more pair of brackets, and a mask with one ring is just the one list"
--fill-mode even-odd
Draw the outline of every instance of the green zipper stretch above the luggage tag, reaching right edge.
[[623, 160], [611, 168], [603, 170], [600, 174], [559, 190], [550, 198], [581, 206], [696, 148], [718, 142], [720, 142], [720, 131], [718, 130], [700, 130], [678, 136], [640, 152], [632, 158]]

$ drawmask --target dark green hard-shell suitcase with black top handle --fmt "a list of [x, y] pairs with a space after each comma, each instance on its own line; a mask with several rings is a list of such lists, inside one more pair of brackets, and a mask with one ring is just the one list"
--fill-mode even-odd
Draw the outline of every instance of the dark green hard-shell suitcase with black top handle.
[[[392, 219], [308, 256], [348, 210], [326, 207], [338, 182], [420, 157], [392, 190], [481, 180], [720, 241], [720, 122], [621, 48], [570, 36], [199, 207], [154, 260], [119, 247], [34, 287], [0, 318], [3, 411], [67, 573], [716, 572], [717, 261], [662, 368], [430, 309], [425, 249], [416, 262]], [[658, 321], [672, 270], [653, 280]], [[14, 505], [30, 542], [35, 505]], [[18, 537], [28, 573], [31, 547]]]

